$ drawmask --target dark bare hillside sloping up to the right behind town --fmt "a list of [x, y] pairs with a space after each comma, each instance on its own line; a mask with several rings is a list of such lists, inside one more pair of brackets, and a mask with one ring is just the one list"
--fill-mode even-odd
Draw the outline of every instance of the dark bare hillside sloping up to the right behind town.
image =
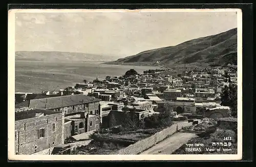
[[143, 51], [106, 64], [176, 66], [184, 63], [199, 66], [237, 65], [237, 28], [176, 46]]

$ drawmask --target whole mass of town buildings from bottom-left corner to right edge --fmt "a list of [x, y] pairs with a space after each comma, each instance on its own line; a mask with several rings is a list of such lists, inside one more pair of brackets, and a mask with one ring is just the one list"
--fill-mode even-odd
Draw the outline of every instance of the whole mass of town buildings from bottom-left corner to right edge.
[[237, 84], [237, 75], [232, 71], [226, 79], [224, 73], [207, 69], [184, 76], [108, 76], [59, 91], [16, 93], [15, 152], [33, 154], [72, 136], [121, 125], [126, 114], [137, 122], [166, 109], [176, 115], [228, 117], [230, 108], [220, 105], [221, 88]]

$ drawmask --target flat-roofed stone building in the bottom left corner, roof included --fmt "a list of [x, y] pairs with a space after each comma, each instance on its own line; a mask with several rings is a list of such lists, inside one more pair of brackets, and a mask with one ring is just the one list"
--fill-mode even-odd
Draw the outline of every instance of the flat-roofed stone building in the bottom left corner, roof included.
[[33, 154], [64, 143], [64, 115], [52, 110], [15, 112], [15, 154]]

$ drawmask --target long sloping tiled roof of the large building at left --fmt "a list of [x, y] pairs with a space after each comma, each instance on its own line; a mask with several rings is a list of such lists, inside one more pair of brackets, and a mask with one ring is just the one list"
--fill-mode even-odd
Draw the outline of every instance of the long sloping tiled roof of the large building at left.
[[78, 95], [50, 97], [50, 98], [43, 98], [43, 99], [33, 99], [33, 100], [30, 100], [29, 107], [53, 109], [53, 108], [66, 107], [66, 106], [77, 105], [82, 103], [89, 103], [93, 101], [101, 101], [101, 100], [91, 96], [78, 94]]

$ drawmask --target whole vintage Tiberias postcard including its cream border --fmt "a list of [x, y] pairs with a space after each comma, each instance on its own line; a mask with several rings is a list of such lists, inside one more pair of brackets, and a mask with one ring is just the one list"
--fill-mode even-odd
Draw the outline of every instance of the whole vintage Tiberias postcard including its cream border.
[[10, 11], [9, 158], [241, 159], [241, 15]]

